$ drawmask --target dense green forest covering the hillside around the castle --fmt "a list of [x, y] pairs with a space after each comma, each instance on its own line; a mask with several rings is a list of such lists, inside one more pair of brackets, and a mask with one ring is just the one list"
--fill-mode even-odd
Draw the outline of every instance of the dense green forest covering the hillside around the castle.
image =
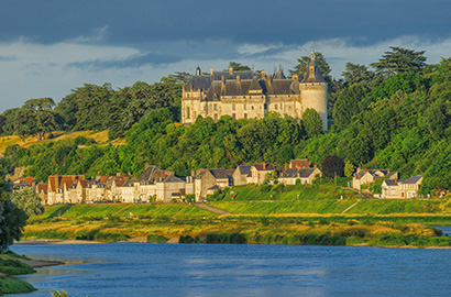
[[[57, 105], [52, 98], [30, 99], [4, 111], [1, 134], [44, 139], [57, 130], [108, 130], [110, 140], [122, 138], [127, 144], [99, 145], [79, 136], [29, 148], [12, 145], [4, 152], [4, 166], [29, 166], [26, 175], [45, 182], [53, 174], [139, 175], [145, 163], [186, 176], [195, 168], [256, 162], [280, 168], [302, 157], [319, 165], [337, 155], [346, 164], [346, 175], [359, 165], [389, 168], [402, 178], [424, 175], [424, 194], [450, 189], [451, 58], [426, 61], [424, 51], [391, 47], [369, 66], [346, 63], [343, 78], [336, 79], [318, 53], [317, 64], [329, 84], [327, 133], [318, 129], [311, 111], [300, 121], [267, 114], [262, 120], [222, 117], [218, 122], [198, 118], [195, 124], [180, 125], [186, 73], [119, 90], [85, 84]], [[300, 57], [290, 73], [302, 73], [308, 62]]]

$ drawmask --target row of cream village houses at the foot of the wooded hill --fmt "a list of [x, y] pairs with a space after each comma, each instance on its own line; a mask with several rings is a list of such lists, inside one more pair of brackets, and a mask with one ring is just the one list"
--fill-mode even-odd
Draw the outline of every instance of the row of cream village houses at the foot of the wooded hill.
[[[86, 179], [85, 175], [52, 175], [48, 182], [38, 183], [34, 177], [20, 177], [12, 182], [13, 190], [33, 188], [43, 205], [97, 204], [97, 202], [202, 202], [217, 190], [249, 184], [280, 183], [284, 185], [312, 184], [321, 178], [320, 168], [309, 161], [292, 160], [282, 170], [274, 164], [240, 165], [235, 169], [198, 168], [190, 176], [177, 177], [170, 170], [146, 164], [140, 177], [122, 175]], [[382, 180], [382, 199], [411, 199], [419, 197], [422, 176], [398, 179], [398, 173], [389, 169], [358, 168], [349, 186], [360, 193], [376, 180]]]

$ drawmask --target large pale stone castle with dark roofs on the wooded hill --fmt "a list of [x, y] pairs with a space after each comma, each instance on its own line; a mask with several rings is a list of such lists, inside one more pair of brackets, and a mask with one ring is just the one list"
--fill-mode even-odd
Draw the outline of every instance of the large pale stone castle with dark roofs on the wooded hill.
[[196, 75], [183, 88], [182, 122], [194, 123], [198, 116], [218, 121], [228, 114], [234, 119], [262, 119], [267, 112], [287, 114], [301, 119], [306, 109], [315, 109], [327, 121], [328, 84], [322, 78], [311, 51], [310, 65], [302, 74], [286, 78], [279, 68], [274, 75], [257, 76], [254, 72], [213, 72], [202, 75], [197, 67]]

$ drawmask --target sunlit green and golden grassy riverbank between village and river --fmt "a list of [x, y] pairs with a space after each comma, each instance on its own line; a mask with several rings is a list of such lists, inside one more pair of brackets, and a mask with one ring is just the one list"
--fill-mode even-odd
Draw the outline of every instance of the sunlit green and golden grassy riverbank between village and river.
[[29, 220], [23, 239], [451, 246], [451, 238], [428, 227], [451, 224], [449, 202], [349, 195], [208, 204], [228, 216], [188, 204], [52, 206]]

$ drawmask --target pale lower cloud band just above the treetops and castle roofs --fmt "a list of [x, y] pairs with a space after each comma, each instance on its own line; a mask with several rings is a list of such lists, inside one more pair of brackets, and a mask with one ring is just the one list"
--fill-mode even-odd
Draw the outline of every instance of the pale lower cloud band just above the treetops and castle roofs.
[[[108, 33], [108, 28], [102, 30], [102, 34]], [[300, 56], [309, 56], [312, 42], [315, 50], [327, 58], [336, 78], [341, 76], [346, 62], [369, 65], [377, 62], [389, 46], [426, 51], [429, 64], [439, 63], [442, 56], [448, 57], [447, 53], [451, 53], [451, 38], [427, 40], [415, 35], [372, 45], [355, 45], [355, 41], [349, 38], [321, 38], [299, 44], [237, 43], [218, 38], [148, 42], [140, 47], [75, 41], [38, 44], [16, 38], [0, 43], [0, 81], [4, 86], [0, 90], [0, 112], [20, 107], [30, 98], [51, 97], [59, 101], [85, 82], [111, 82], [113, 88], [122, 88], [138, 80], [158, 81], [175, 72], [194, 73], [197, 66], [204, 72], [210, 67], [222, 70], [231, 61], [267, 73], [278, 65], [287, 70]]]

